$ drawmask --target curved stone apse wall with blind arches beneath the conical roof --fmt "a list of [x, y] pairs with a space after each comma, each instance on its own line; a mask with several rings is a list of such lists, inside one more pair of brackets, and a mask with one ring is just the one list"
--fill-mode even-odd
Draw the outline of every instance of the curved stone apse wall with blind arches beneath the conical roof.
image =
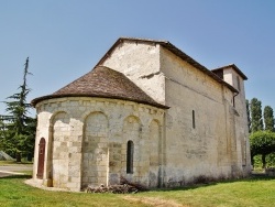
[[[121, 176], [152, 187], [160, 185], [163, 109], [82, 97], [44, 100], [36, 109], [33, 178], [37, 182], [37, 144], [44, 138], [44, 185], [80, 190], [89, 184], [119, 184]], [[134, 145], [132, 173], [127, 173], [128, 141]]]

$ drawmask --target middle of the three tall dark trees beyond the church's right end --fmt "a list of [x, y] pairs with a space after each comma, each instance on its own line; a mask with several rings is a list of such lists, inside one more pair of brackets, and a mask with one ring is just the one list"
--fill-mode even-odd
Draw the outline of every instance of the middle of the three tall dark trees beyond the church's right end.
[[263, 130], [263, 119], [262, 119], [262, 102], [256, 98], [253, 98], [250, 103], [251, 108], [251, 131], [262, 131]]

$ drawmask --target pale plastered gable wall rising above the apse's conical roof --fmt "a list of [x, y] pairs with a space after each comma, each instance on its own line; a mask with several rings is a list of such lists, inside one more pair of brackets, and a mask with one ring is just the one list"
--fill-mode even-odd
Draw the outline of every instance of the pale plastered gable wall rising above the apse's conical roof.
[[102, 63], [124, 74], [160, 103], [165, 103], [165, 79], [160, 72], [160, 45], [154, 43], [120, 43]]

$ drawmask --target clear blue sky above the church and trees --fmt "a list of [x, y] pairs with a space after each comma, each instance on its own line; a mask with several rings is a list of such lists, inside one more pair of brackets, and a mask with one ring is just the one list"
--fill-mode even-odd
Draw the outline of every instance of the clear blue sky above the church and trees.
[[274, 0], [0, 0], [0, 101], [28, 56], [30, 101], [89, 72], [120, 36], [167, 40], [209, 69], [234, 63], [246, 98], [275, 110]]

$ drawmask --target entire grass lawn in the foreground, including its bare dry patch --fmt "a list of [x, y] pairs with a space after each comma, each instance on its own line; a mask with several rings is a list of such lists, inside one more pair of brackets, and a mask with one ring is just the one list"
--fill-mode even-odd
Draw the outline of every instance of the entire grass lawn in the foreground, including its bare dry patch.
[[184, 206], [274, 207], [275, 178], [257, 177], [138, 194], [43, 190], [25, 185], [26, 175], [0, 178], [0, 206]]

